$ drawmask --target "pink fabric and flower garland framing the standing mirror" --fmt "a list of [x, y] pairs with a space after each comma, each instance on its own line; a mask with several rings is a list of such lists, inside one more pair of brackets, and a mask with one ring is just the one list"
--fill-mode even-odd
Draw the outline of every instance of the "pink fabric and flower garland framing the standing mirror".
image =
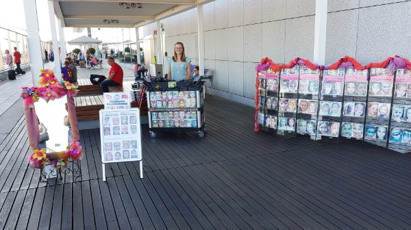
[[29, 131], [30, 146], [34, 149], [33, 153], [29, 155], [29, 164], [32, 168], [44, 168], [49, 164], [52, 168], [62, 168], [69, 162], [69, 158], [77, 161], [83, 155], [82, 146], [79, 143], [79, 135], [75, 135], [75, 142], [70, 143], [65, 151], [46, 153], [46, 149], [38, 149], [38, 125], [36, 112], [34, 110], [34, 102], [39, 99], [44, 99], [47, 103], [55, 99], [60, 99], [67, 95], [69, 105], [69, 113], [74, 113], [70, 117], [72, 126], [77, 127], [77, 115], [75, 114], [75, 107], [73, 97], [77, 94], [77, 86], [71, 84], [69, 81], [58, 81], [53, 71], [41, 70], [40, 80], [38, 83], [40, 87], [22, 87], [21, 97], [24, 99], [25, 115], [27, 129]]

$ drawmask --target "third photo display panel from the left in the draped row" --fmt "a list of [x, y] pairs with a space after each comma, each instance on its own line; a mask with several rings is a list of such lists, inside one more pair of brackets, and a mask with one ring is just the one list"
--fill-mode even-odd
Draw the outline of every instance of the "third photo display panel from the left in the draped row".
[[299, 89], [297, 129], [299, 135], [316, 136], [316, 123], [319, 107], [320, 71], [313, 71], [307, 66], [299, 66]]

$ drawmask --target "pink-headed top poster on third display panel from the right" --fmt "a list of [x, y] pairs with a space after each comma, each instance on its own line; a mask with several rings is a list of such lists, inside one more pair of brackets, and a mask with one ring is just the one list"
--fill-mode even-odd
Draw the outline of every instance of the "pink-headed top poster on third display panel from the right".
[[358, 71], [353, 68], [347, 68], [345, 73], [345, 96], [366, 97], [366, 88], [368, 87], [368, 71]]

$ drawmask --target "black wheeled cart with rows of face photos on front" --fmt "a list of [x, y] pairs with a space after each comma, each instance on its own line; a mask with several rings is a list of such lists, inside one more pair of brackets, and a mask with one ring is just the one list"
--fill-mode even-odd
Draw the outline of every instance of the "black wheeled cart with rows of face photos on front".
[[203, 83], [206, 76], [183, 81], [145, 79], [151, 138], [157, 131], [207, 131]]

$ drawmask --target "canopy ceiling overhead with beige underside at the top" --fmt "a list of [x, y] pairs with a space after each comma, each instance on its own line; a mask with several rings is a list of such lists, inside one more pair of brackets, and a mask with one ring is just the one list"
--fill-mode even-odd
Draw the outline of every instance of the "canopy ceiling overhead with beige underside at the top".
[[53, 0], [63, 27], [140, 27], [214, 0]]

